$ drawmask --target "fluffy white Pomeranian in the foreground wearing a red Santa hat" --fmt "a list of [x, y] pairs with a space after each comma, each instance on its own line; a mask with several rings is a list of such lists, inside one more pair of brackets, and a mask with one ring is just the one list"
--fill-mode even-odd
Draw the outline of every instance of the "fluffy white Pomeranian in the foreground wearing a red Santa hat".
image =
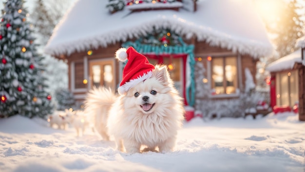
[[116, 58], [128, 58], [120, 96], [95, 88], [85, 100], [99, 134], [106, 140], [114, 136], [118, 150], [128, 153], [173, 151], [185, 111], [167, 67], [153, 66], [133, 47], [119, 49]]

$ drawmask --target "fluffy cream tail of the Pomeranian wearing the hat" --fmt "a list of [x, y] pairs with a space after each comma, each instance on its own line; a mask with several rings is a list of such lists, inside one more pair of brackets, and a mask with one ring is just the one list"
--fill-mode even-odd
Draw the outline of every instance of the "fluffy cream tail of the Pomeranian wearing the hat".
[[106, 129], [108, 112], [116, 98], [117, 96], [110, 88], [94, 87], [88, 92], [84, 101], [85, 113], [91, 118], [95, 130], [105, 140], [109, 140]]

